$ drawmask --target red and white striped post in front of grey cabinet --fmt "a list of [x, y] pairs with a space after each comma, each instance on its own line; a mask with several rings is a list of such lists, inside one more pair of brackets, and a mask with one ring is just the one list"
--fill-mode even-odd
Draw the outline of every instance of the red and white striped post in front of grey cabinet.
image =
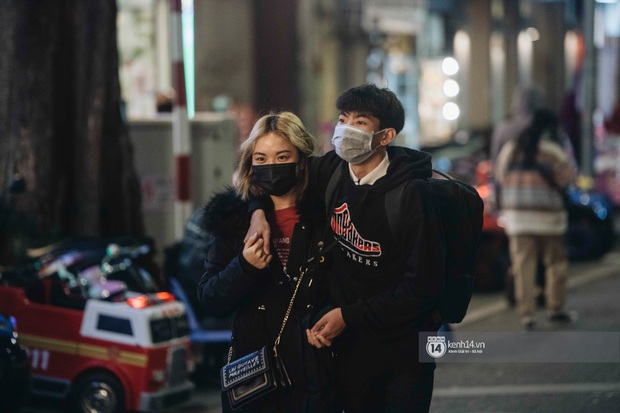
[[172, 153], [176, 165], [176, 200], [174, 234], [183, 237], [183, 229], [192, 214], [191, 198], [191, 130], [187, 117], [185, 66], [183, 63], [183, 27], [181, 0], [170, 1], [172, 86], [175, 90], [172, 109]]

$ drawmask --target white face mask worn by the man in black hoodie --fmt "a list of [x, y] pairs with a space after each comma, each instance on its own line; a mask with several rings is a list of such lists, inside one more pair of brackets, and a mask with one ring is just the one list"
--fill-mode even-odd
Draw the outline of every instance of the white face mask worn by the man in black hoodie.
[[336, 154], [342, 160], [357, 165], [375, 153], [377, 148], [372, 149], [372, 138], [379, 132], [372, 133], [341, 123], [334, 129], [332, 144], [336, 149]]

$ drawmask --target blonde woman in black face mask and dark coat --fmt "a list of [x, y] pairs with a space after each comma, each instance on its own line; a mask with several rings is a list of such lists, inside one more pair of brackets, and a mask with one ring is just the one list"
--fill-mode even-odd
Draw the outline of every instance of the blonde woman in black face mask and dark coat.
[[[242, 411], [334, 411], [331, 353], [310, 346], [305, 336], [329, 304], [321, 272], [308, 265], [318, 261], [314, 258], [326, 226], [321, 201], [304, 197], [308, 158], [317, 148], [317, 140], [293, 113], [261, 117], [241, 145], [234, 189], [216, 194], [204, 207], [202, 224], [210, 240], [198, 298], [208, 315], [235, 313], [228, 362], [263, 346], [271, 349], [287, 319], [277, 352], [291, 385]], [[265, 254], [256, 235], [243, 241], [248, 201], [256, 196], [273, 201], [268, 213], [273, 254]], [[222, 404], [224, 411], [232, 409], [226, 393]]]

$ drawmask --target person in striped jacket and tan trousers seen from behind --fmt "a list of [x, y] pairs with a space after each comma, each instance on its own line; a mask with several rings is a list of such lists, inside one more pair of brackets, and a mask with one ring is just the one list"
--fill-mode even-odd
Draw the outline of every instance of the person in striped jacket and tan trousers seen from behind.
[[500, 151], [495, 178], [501, 221], [509, 239], [515, 298], [523, 326], [535, 326], [538, 257], [545, 267], [545, 302], [551, 322], [570, 322], [564, 310], [568, 257], [565, 189], [575, 178], [575, 162], [562, 144], [558, 118], [541, 109], [517, 139]]

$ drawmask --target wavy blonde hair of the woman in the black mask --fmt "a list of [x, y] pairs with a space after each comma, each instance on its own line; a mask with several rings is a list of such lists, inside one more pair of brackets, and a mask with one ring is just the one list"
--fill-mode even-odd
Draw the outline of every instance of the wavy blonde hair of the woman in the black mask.
[[297, 153], [299, 154], [299, 162], [297, 163], [299, 180], [293, 188], [293, 194], [295, 200], [299, 201], [299, 198], [308, 186], [308, 157], [317, 153], [319, 143], [306, 130], [302, 121], [292, 112], [271, 112], [262, 116], [254, 124], [250, 135], [239, 148], [239, 164], [235, 169], [235, 191], [245, 200], [252, 196], [265, 195], [265, 192], [254, 183], [252, 154], [256, 147], [256, 141], [272, 132], [287, 139], [297, 148]]

